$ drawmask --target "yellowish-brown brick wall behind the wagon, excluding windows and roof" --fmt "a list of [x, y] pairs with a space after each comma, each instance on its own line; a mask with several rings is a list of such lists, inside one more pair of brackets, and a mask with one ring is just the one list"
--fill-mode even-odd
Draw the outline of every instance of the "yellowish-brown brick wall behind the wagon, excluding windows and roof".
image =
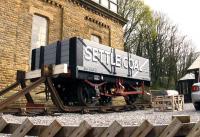
[[48, 42], [79, 36], [101, 37], [123, 50], [122, 25], [71, 0], [0, 0], [0, 89], [15, 81], [18, 69], [28, 71], [33, 14], [48, 18]]

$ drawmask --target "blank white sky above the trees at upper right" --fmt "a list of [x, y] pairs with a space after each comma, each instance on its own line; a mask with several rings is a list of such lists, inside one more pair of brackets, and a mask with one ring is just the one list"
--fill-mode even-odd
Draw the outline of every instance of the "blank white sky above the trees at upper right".
[[200, 0], [144, 0], [144, 3], [166, 14], [200, 51]]

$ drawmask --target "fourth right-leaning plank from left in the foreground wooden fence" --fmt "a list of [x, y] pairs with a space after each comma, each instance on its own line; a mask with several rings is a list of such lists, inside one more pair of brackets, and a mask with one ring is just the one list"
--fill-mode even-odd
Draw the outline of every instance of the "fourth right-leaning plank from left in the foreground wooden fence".
[[86, 121], [83, 121], [69, 137], [84, 137], [91, 129], [92, 127]]

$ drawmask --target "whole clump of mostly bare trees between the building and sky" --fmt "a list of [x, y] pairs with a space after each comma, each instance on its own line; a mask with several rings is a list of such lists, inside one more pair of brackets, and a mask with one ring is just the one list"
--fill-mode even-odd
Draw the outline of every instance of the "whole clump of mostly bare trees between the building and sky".
[[195, 59], [192, 44], [166, 15], [152, 12], [140, 0], [121, 0], [119, 13], [128, 19], [125, 50], [149, 58], [153, 88], [175, 88]]

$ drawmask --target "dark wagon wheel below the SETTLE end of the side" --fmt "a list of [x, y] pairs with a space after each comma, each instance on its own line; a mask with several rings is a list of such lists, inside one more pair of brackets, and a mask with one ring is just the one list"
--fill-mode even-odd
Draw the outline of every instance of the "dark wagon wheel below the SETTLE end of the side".
[[77, 95], [80, 105], [95, 106], [99, 103], [98, 98], [96, 98], [96, 91], [84, 83], [78, 85]]

